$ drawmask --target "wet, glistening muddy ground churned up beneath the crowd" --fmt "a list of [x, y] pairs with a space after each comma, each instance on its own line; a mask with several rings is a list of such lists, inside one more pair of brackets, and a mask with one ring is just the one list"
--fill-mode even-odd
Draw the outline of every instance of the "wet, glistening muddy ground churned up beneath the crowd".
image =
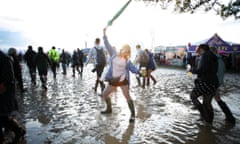
[[[214, 122], [199, 120], [189, 93], [193, 77], [184, 70], [159, 68], [153, 72], [158, 83], [146, 89], [134, 87], [136, 121], [129, 123], [130, 112], [118, 89], [112, 94], [113, 113], [101, 115], [104, 102], [92, 87], [92, 66], [84, 69], [83, 78], [66, 76], [58, 70], [57, 79], [48, 75], [48, 90], [40, 82], [31, 85], [24, 68], [28, 88], [22, 96], [19, 119], [26, 127], [27, 144], [237, 144], [240, 143], [240, 74], [226, 74], [223, 100], [236, 117], [235, 126], [225, 122], [224, 113], [213, 100]], [[100, 89], [99, 89], [100, 90]]]

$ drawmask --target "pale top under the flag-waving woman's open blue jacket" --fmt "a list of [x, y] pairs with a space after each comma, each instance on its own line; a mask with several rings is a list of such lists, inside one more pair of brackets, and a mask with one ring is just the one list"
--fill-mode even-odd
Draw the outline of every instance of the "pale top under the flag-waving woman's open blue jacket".
[[120, 81], [123, 81], [126, 78], [126, 67], [127, 67], [127, 62], [126, 59], [121, 58], [119, 56], [116, 56], [112, 60], [112, 75], [113, 77], [120, 77]]

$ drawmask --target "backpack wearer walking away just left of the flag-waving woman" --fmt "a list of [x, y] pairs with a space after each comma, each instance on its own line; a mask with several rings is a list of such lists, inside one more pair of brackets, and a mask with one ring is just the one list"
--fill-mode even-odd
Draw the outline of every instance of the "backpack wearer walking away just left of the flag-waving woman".
[[89, 55], [88, 55], [88, 58], [86, 61], [86, 65], [89, 63], [89, 61], [91, 60], [92, 57], [94, 59], [94, 65], [95, 65], [96, 72], [97, 72], [97, 79], [95, 82], [94, 91], [97, 92], [98, 84], [100, 84], [101, 91], [103, 92], [103, 90], [105, 88], [105, 84], [103, 83], [103, 81], [100, 80], [100, 78], [101, 78], [103, 69], [106, 66], [106, 56], [105, 56], [104, 48], [100, 46], [99, 38], [96, 38], [95, 46], [89, 52]]

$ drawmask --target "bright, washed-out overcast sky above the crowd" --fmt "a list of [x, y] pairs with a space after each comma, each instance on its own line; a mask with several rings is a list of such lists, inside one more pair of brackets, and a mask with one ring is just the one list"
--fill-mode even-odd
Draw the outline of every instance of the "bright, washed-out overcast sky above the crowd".
[[[0, 0], [0, 30], [19, 32], [27, 44], [65, 49], [93, 46], [108, 20], [127, 0]], [[218, 33], [240, 43], [240, 21], [213, 13], [174, 14], [133, 1], [108, 29], [109, 40], [151, 48], [183, 45]], [[1, 40], [1, 38], [0, 38]], [[0, 41], [1, 42], [1, 41]], [[1, 44], [0, 44], [1, 45]]]

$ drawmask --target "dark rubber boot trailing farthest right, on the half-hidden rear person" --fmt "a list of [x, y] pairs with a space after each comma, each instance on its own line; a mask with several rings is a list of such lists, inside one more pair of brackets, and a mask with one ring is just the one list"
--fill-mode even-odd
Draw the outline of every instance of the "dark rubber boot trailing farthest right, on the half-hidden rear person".
[[222, 109], [222, 111], [224, 112], [224, 114], [226, 116], [226, 120], [231, 122], [232, 124], [235, 124], [236, 120], [233, 117], [232, 112], [230, 111], [230, 109], [228, 108], [226, 103], [223, 102], [222, 100], [218, 101], [217, 103], [220, 106], [220, 108]]

